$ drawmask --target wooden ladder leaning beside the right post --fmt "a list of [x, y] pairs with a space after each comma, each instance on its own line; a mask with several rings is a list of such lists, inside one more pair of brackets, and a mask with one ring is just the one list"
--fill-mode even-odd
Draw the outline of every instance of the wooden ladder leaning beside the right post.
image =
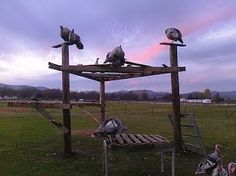
[[[169, 116], [173, 125], [172, 117], [172, 115]], [[203, 139], [194, 114], [181, 114], [181, 136], [184, 149], [206, 155]]]

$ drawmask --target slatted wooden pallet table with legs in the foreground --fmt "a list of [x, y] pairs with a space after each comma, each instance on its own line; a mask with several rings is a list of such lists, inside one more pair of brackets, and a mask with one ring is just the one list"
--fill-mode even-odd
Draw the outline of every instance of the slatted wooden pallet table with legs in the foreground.
[[172, 142], [160, 135], [118, 134], [114, 139], [103, 141], [104, 175], [109, 175], [109, 153], [122, 149], [154, 149], [161, 153], [161, 173], [164, 173], [164, 157], [166, 152], [172, 152], [172, 176], [175, 175], [175, 150]]

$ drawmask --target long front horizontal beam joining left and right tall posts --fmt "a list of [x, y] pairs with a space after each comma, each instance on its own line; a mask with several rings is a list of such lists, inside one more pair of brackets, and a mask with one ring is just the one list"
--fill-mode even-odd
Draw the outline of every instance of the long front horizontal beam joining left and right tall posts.
[[49, 62], [49, 68], [68, 72], [110, 72], [110, 73], [172, 73], [185, 71], [185, 67], [113, 67], [108, 65], [70, 65], [63, 66]]

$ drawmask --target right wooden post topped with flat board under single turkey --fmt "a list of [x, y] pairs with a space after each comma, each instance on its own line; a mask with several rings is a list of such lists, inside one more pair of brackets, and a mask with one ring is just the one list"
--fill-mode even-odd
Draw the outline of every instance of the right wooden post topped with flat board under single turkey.
[[[175, 44], [175, 43], [161, 43], [161, 45], [170, 46], [170, 67], [178, 67], [177, 46], [186, 46], [186, 45]], [[182, 136], [181, 136], [180, 94], [179, 94], [178, 72], [171, 73], [171, 89], [172, 89], [172, 113], [173, 113], [175, 151], [180, 152], [182, 150]]]

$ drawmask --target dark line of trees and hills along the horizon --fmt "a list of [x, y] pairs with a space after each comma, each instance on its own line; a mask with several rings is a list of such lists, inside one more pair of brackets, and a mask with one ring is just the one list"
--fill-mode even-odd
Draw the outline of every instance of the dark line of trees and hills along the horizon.
[[[0, 88], [0, 98], [3, 97], [15, 97], [15, 99], [42, 99], [42, 100], [62, 100], [62, 90], [60, 89], [45, 89], [39, 90], [34, 87], [26, 87], [22, 89], [12, 89], [9, 87]], [[99, 101], [99, 92], [97, 91], [71, 91], [71, 100], [74, 101]], [[172, 95], [170, 93], [163, 94], [159, 98], [149, 96], [147, 92], [143, 91], [137, 93], [134, 91], [121, 91], [106, 93], [106, 100], [108, 101], [171, 101]], [[203, 92], [192, 92], [183, 95], [187, 99], [211, 99], [214, 102], [224, 102], [224, 99], [219, 93], [210, 89], [206, 89]], [[182, 96], [182, 97], [183, 97]]]

